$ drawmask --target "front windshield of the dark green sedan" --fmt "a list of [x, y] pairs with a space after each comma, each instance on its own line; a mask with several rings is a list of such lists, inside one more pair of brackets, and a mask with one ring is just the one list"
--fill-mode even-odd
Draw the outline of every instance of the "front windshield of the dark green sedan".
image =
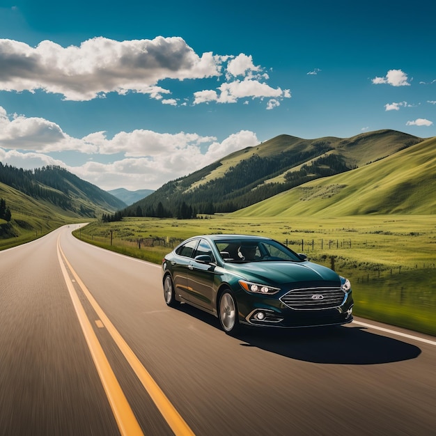
[[225, 262], [302, 262], [294, 251], [274, 240], [229, 239], [215, 241]]

